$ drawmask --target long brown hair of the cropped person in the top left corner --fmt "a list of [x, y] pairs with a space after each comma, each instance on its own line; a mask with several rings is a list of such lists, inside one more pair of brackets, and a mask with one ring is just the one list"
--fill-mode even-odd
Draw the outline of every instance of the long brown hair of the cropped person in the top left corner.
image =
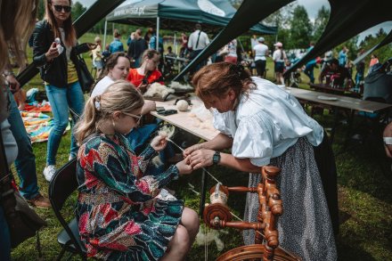
[[8, 48], [22, 64], [23, 53], [34, 29], [38, 0], [0, 0], [0, 72], [8, 62]]

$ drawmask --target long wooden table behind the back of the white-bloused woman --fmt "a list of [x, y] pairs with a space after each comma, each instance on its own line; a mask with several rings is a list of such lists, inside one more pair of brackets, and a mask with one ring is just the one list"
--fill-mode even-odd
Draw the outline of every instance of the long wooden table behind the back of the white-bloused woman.
[[[388, 104], [388, 103], [364, 101], [353, 97], [347, 97], [338, 94], [325, 94], [325, 93], [309, 91], [309, 90], [299, 89], [299, 88], [286, 87], [286, 91], [289, 92], [290, 94], [293, 94], [298, 100], [329, 105], [332, 108], [336, 109], [334, 123], [331, 129], [331, 143], [333, 142], [336, 126], [338, 125], [339, 109], [351, 110], [350, 117], [348, 118], [349, 127], [347, 130], [347, 135], [349, 135], [349, 133], [351, 132], [355, 110], [374, 113], [374, 112], [380, 112], [382, 110], [387, 110], [392, 107], [392, 104]], [[331, 97], [336, 100], [334, 101], [323, 100], [321, 99], [321, 96]]]

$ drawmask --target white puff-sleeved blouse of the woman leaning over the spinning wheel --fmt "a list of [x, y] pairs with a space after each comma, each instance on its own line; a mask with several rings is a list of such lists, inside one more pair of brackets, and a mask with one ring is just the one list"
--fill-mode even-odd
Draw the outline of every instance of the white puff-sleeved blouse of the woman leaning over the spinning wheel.
[[306, 136], [314, 146], [323, 141], [323, 127], [307, 116], [297, 99], [281, 87], [252, 77], [257, 88], [242, 94], [235, 110], [213, 110], [214, 126], [233, 137], [232, 154], [250, 159], [255, 166], [281, 156], [299, 137]]

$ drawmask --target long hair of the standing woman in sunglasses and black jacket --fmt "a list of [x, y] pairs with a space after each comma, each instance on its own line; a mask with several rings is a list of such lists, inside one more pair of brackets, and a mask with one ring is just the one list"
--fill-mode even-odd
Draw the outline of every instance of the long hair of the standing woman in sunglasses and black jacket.
[[[59, 30], [59, 26], [54, 18], [54, 13], [51, 8], [52, 0], [46, 0], [45, 4], [45, 20], [49, 23], [51, 28], [53, 29], [54, 37], [61, 38], [61, 33]], [[72, 5], [72, 1], [69, 0], [69, 6]], [[72, 18], [69, 13], [69, 17], [67, 20], [64, 20], [63, 29], [65, 34], [65, 44], [68, 46], [74, 46], [77, 44], [77, 32], [72, 26]]]

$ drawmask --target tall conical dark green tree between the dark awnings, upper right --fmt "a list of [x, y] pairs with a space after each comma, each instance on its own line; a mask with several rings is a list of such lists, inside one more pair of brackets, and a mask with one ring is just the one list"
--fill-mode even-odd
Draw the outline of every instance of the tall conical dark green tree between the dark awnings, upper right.
[[306, 9], [302, 5], [297, 5], [290, 19], [290, 41], [286, 44], [285, 48], [306, 48], [309, 46], [311, 37], [312, 24]]

